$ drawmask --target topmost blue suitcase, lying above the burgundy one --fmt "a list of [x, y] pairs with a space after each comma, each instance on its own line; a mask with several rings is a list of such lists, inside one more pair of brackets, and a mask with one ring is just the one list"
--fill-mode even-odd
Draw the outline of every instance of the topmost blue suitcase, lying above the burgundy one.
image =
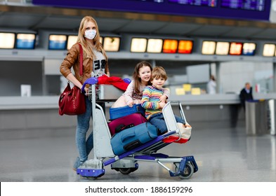
[[119, 108], [110, 108], [110, 120], [130, 115], [131, 113], [145, 113], [145, 109], [141, 104], [134, 104], [132, 107], [124, 106]]

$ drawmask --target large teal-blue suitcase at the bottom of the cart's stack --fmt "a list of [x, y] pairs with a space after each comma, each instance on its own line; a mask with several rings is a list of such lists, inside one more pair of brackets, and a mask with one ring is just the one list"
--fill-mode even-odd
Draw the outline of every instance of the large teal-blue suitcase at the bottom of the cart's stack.
[[157, 136], [158, 130], [155, 125], [142, 123], [114, 134], [110, 142], [114, 155], [121, 155], [145, 144], [147, 141], [155, 139]]

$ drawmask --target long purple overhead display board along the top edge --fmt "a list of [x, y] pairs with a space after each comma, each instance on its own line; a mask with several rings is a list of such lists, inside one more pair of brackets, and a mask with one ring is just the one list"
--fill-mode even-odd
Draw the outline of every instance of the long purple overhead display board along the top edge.
[[63, 8], [269, 20], [271, 0], [33, 0], [32, 3]]

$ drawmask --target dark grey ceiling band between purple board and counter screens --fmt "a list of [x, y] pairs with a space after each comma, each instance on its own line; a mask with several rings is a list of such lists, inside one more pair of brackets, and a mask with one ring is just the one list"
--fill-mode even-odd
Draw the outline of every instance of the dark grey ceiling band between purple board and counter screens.
[[112, 12], [0, 4], [0, 29], [77, 33], [84, 15], [96, 18], [100, 32], [275, 41], [276, 25], [267, 21], [192, 18], [178, 15]]

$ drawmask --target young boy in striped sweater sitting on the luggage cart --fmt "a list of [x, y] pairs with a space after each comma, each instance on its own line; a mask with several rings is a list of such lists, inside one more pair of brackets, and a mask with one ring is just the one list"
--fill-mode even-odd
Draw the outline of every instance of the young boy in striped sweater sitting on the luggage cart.
[[[156, 66], [152, 70], [152, 76], [150, 79], [152, 85], [145, 87], [141, 101], [141, 104], [145, 109], [145, 117], [152, 125], [155, 125], [159, 129], [161, 134], [167, 132], [166, 123], [162, 113], [162, 109], [166, 104], [159, 100], [164, 93], [163, 85], [167, 78], [168, 76], [166, 76], [164, 68], [162, 66]], [[185, 124], [185, 121], [182, 118], [178, 116], [175, 117], [177, 123], [182, 123], [183, 127], [190, 127], [190, 125]]]

